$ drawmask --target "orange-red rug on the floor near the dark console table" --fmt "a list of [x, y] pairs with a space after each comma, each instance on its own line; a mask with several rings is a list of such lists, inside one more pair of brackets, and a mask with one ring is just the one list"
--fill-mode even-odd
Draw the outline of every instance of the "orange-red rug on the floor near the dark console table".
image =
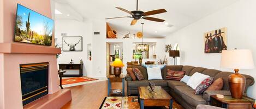
[[78, 78], [68, 78], [68, 79], [62, 79], [62, 85], [75, 84], [79, 82], [94, 81], [94, 80], [98, 80], [98, 79], [89, 78], [86, 76], [78, 77]]

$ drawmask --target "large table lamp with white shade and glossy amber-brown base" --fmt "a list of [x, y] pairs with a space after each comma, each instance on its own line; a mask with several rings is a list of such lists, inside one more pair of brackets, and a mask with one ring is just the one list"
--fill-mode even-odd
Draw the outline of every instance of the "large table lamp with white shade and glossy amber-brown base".
[[246, 79], [238, 72], [239, 69], [254, 68], [251, 50], [222, 50], [221, 67], [235, 69], [235, 74], [229, 75], [229, 89], [232, 98], [241, 99], [243, 92], [245, 92]]

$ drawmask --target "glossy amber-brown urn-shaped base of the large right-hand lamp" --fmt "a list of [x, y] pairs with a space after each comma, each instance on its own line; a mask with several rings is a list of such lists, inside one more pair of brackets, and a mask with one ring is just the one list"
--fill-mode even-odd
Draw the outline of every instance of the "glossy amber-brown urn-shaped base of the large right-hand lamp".
[[242, 99], [243, 92], [245, 92], [245, 84], [245, 76], [239, 74], [235, 69], [235, 74], [229, 75], [229, 89], [232, 98]]

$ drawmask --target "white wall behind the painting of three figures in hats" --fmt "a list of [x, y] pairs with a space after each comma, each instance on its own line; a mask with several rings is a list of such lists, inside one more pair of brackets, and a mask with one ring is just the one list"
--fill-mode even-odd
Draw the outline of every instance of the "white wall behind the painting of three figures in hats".
[[[220, 68], [221, 54], [204, 54], [203, 35], [206, 31], [222, 27], [228, 28], [228, 49], [251, 49], [256, 62], [256, 1], [239, 1], [227, 8], [221, 9], [201, 20], [188, 25], [166, 37], [166, 43], [178, 43], [181, 50], [181, 65]], [[256, 79], [256, 69], [241, 70]], [[249, 87], [249, 97], [256, 98], [256, 84]]]

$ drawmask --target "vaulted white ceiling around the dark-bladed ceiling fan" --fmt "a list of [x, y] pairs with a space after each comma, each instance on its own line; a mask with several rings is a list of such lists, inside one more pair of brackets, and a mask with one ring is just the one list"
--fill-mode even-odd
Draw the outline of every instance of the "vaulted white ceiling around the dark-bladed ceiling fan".
[[[55, 0], [57, 3], [65, 4], [56, 7], [64, 15], [57, 15], [56, 18], [77, 18], [105, 20], [109, 17], [129, 16], [126, 12], [116, 9], [121, 7], [129, 11], [136, 9], [136, 0]], [[149, 37], [160, 38], [171, 34], [172, 32], [186, 27], [187, 25], [206, 17], [213, 12], [225, 8], [239, 0], [139, 0], [139, 10], [144, 12], [156, 9], [166, 9], [167, 12], [158, 15], [152, 15], [164, 19], [172, 27], [166, 26], [165, 22], [152, 22], [140, 20], [136, 25], [131, 26], [132, 18], [118, 18], [105, 20], [109, 22], [112, 28], [122, 29], [122, 31], [139, 31], [140, 22], [145, 23], [144, 32]], [[67, 6], [68, 5], [68, 6]], [[66, 7], [66, 8], [65, 8]], [[73, 9], [69, 11], [69, 8]], [[75, 12], [74, 12], [75, 11]], [[71, 13], [70, 13], [71, 12]], [[74, 17], [72, 13], [75, 14]], [[66, 16], [70, 14], [70, 16]], [[81, 19], [81, 18], [80, 18]], [[157, 33], [155, 32], [157, 31]]]

